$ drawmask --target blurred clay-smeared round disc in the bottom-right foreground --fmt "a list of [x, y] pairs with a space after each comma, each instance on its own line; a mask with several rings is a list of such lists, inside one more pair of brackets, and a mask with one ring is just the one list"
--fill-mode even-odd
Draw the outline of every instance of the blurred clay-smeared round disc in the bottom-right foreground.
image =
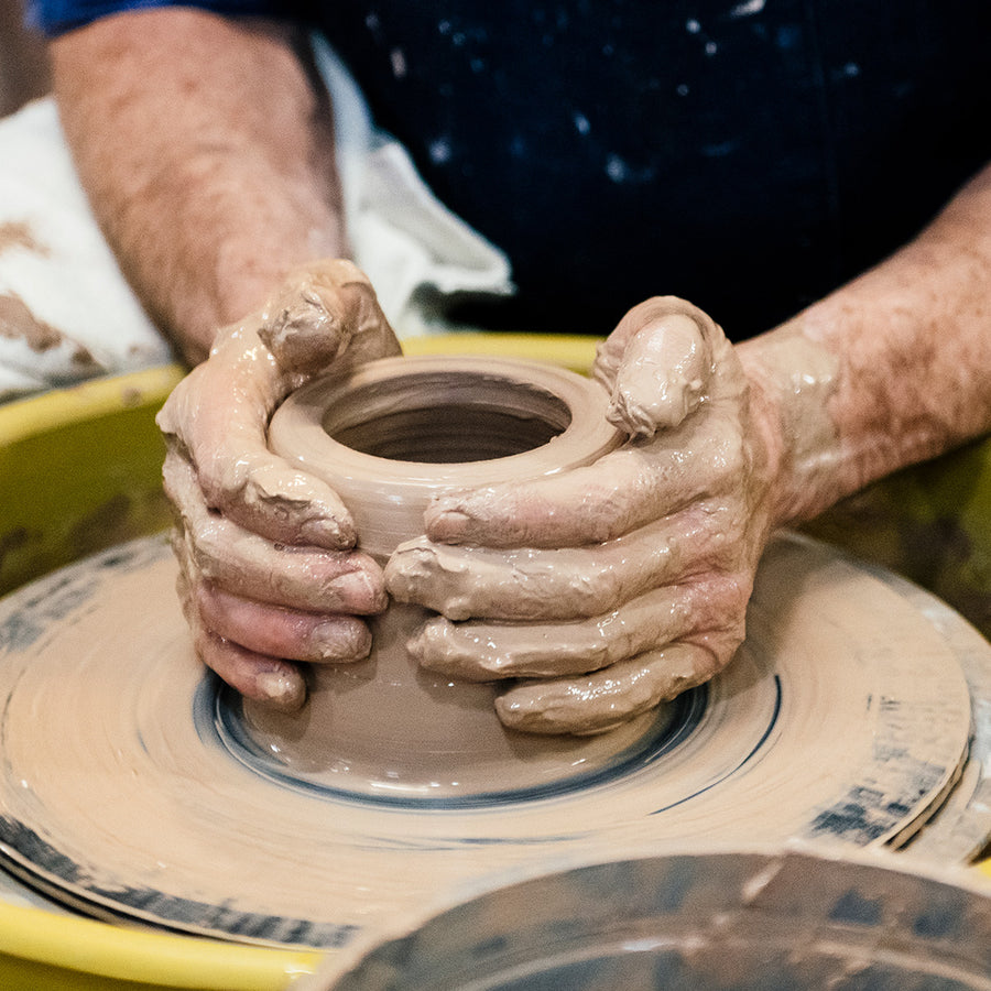
[[446, 991], [989, 987], [991, 895], [962, 871], [749, 848], [627, 856], [425, 907], [300, 991], [434, 991], [438, 973]]

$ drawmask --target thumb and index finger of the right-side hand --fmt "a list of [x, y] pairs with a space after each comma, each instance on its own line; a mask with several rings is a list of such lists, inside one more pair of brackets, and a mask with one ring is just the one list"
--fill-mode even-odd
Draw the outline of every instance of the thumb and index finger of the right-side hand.
[[427, 536], [500, 548], [602, 543], [747, 477], [745, 377], [697, 307], [674, 297], [635, 307], [596, 371], [612, 390], [610, 418], [631, 442], [585, 468], [442, 494], [425, 513]]

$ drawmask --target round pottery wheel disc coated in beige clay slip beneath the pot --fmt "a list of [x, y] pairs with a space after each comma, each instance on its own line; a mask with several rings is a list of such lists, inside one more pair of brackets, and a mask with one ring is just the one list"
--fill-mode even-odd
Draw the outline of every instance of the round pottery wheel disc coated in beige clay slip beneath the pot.
[[799, 537], [769, 548], [748, 640], [709, 686], [587, 771], [433, 801], [233, 752], [175, 574], [149, 538], [0, 603], [0, 852], [92, 914], [336, 946], [481, 875], [589, 852], [900, 846], [922, 829], [966, 858], [991, 831], [968, 758], [991, 646], [914, 586]]

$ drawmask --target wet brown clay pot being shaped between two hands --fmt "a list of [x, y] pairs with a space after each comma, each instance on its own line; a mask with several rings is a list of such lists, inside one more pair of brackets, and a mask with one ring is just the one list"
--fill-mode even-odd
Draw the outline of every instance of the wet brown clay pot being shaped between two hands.
[[[606, 421], [607, 402], [597, 383], [552, 366], [385, 360], [300, 390], [273, 417], [269, 444], [340, 496], [359, 549], [384, 564], [423, 532], [435, 493], [565, 471], [617, 447], [621, 435]], [[558, 571], [562, 598], [580, 598], [582, 574], [569, 574], [566, 562]], [[413, 638], [428, 618], [418, 607], [392, 603], [371, 621], [367, 661], [314, 665], [301, 714], [246, 700], [246, 731], [307, 780], [362, 793], [447, 795], [585, 773], [664, 718], [631, 720], [608, 740], [507, 730], [496, 716], [493, 685], [420, 667]], [[520, 639], [527, 635], [538, 640], [542, 631], [521, 627]]]

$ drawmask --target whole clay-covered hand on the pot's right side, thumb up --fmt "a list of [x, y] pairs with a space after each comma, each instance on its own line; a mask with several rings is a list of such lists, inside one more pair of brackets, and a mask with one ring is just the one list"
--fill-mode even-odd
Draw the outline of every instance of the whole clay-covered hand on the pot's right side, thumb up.
[[411, 642], [454, 678], [512, 678], [509, 727], [601, 732], [733, 656], [771, 529], [770, 442], [722, 330], [674, 297], [632, 309], [596, 377], [629, 439], [596, 464], [445, 493], [386, 587], [440, 616]]

